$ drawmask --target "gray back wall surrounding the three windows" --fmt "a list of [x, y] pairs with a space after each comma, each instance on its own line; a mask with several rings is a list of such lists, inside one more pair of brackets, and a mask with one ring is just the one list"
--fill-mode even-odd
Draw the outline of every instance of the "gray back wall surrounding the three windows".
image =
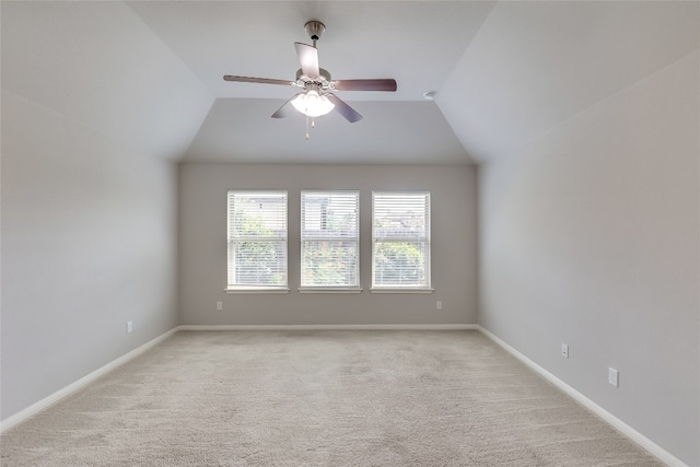
[[[469, 324], [477, 318], [472, 166], [183, 164], [179, 172], [184, 325]], [[226, 294], [226, 190], [289, 191], [289, 294]], [[301, 294], [300, 191], [360, 190], [360, 294]], [[373, 294], [372, 190], [430, 190], [431, 294]], [[443, 310], [435, 310], [435, 302]], [[223, 302], [223, 311], [215, 302]]]

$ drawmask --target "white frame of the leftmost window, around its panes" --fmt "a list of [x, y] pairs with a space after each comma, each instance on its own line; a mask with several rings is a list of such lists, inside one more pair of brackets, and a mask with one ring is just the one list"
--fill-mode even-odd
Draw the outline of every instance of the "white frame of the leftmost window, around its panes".
[[[235, 197], [245, 195], [247, 197], [257, 196], [283, 196], [284, 198], [284, 225], [283, 237], [270, 236], [270, 237], [253, 237], [258, 242], [266, 242], [273, 245], [283, 245], [284, 252], [284, 283], [275, 285], [260, 285], [250, 283], [232, 283], [231, 280], [231, 260], [232, 260], [232, 244], [236, 242], [235, 234], [232, 229], [232, 222], [235, 215]], [[232, 199], [233, 197], [233, 199]], [[242, 242], [238, 237], [237, 242]], [[235, 269], [235, 267], [234, 267]], [[288, 293], [289, 292], [289, 192], [284, 189], [229, 189], [226, 191], [226, 293]]]

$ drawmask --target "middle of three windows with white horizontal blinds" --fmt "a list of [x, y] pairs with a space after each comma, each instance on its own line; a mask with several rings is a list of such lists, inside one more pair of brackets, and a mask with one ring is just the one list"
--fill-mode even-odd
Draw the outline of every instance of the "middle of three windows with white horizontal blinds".
[[358, 191], [302, 191], [301, 287], [360, 288]]

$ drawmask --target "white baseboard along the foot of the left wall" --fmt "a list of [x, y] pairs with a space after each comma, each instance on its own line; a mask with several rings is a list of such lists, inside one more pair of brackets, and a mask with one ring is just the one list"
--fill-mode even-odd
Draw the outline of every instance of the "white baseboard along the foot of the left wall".
[[125, 353], [124, 355], [119, 357], [118, 359], [113, 360], [112, 362], [107, 363], [106, 365], [104, 365], [104, 366], [95, 370], [94, 372], [81, 377], [80, 380], [75, 381], [74, 383], [71, 383], [68, 386], [63, 387], [62, 389], [59, 389], [56, 393], [51, 394], [50, 396], [47, 396], [47, 397], [43, 398], [38, 402], [32, 404], [30, 407], [27, 407], [24, 410], [19, 411], [18, 413], [13, 415], [12, 417], [8, 417], [5, 420], [2, 420], [0, 422], [0, 433], [2, 433], [5, 430], [11, 429], [12, 427], [15, 427], [19, 423], [22, 423], [24, 420], [26, 420], [30, 417], [40, 412], [42, 410], [47, 409], [48, 407], [50, 407], [54, 404], [58, 402], [62, 398], [71, 395], [72, 393], [74, 393], [74, 392], [77, 392], [79, 389], [82, 389], [83, 387], [85, 387], [90, 383], [92, 383], [93, 381], [95, 381], [98, 377], [109, 373], [110, 371], [113, 371], [117, 366], [120, 366], [120, 365], [125, 364], [129, 360], [140, 355], [141, 353], [145, 352], [147, 350], [151, 349], [152, 347], [158, 346], [159, 343], [161, 343], [163, 340], [165, 340], [168, 337], [171, 337], [176, 331], [177, 331], [177, 327], [175, 327], [175, 328], [168, 330], [167, 332], [156, 337], [155, 339], [152, 339], [152, 340], [145, 342], [143, 346], [138, 347], [138, 348], [133, 349], [132, 351], [130, 351], [128, 353]]

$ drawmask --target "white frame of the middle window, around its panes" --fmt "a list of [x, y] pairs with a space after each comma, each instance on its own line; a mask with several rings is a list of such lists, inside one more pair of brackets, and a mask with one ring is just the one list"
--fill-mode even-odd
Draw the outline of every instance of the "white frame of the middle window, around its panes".
[[[354, 224], [355, 224], [355, 235], [353, 237], [348, 237], [348, 236], [313, 236], [313, 235], [307, 235], [306, 231], [305, 231], [305, 224], [306, 224], [306, 200], [304, 198], [305, 195], [318, 195], [318, 196], [323, 196], [323, 195], [348, 195], [348, 194], [352, 194], [355, 197], [355, 219], [354, 219]], [[304, 285], [304, 272], [305, 272], [305, 268], [304, 268], [304, 255], [305, 255], [305, 248], [304, 248], [304, 244], [306, 242], [314, 242], [314, 241], [345, 241], [345, 242], [354, 242], [355, 244], [355, 258], [354, 258], [354, 277], [355, 277], [355, 283], [354, 284], [348, 284], [348, 285], [342, 285], [342, 284], [334, 284], [334, 285], [319, 285], [319, 284], [307, 284]], [[360, 190], [357, 189], [302, 189], [300, 192], [300, 255], [299, 255], [299, 259], [300, 259], [300, 278], [299, 278], [299, 282], [300, 282], [300, 287], [298, 288], [298, 291], [300, 293], [360, 293], [362, 292], [362, 287], [361, 287], [361, 280], [360, 280], [360, 257], [361, 257], [361, 252], [360, 252]]]

